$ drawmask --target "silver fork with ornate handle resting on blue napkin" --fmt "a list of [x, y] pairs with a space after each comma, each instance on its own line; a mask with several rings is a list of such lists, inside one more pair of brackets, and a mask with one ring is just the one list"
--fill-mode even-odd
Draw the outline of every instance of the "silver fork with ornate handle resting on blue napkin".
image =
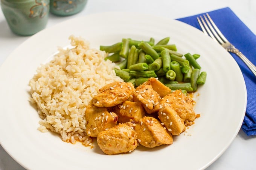
[[[206, 17], [206, 15], [207, 15], [207, 17]], [[238, 57], [240, 57], [240, 59], [248, 66], [248, 68], [256, 76], [256, 66], [254, 66], [253, 63], [251, 63], [250, 60], [248, 60], [247, 57], [244, 56], [244, 54], [242, 54], [237, 48], [235, 48], [234, 45], [232, 45], [225, 38], [225, 36], [221, 33], [221, 31], [218, 29], [218, 27], [213, 22], [210, 15], [208, 13], [206, 13], [206, 15], [203, 15], [204, 19], [202, 16], [200, 16], [201, 21], [200, 21], [199, 17], [197, 17], [197, 21], [198, 21], [201, 29], [203, 30], [204, 34], [212, 37], [212, 39], [214, 41], [221, 44], [221, 46], [224, 47], [230, 53], [235, 53]]]

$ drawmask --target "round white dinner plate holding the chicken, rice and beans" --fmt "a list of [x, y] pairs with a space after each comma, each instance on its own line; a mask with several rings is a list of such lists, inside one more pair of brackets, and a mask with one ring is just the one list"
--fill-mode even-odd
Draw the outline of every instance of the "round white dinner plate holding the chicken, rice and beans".
[[[29, 103], [29, 80], [38, 66], [81, 36], [91, 47], [122, 38], [159, 41], [167, 36], [178, 52], [200, 54], [206, 84], [194, 95], [201, 117], [168, 146], [105, 155], [94, 148], [70, 144], [51, 132], [37, 130], [40, 117]], [[246, 108], [242, 73], [232, 56], [200, 30], [180, 21], [143, 14], [111, 12], [74, 18], [45, 29], [21, 44], [0, 68], [0, 143], [27, 169], [203, 169], [214, 162], [238, 134]]]

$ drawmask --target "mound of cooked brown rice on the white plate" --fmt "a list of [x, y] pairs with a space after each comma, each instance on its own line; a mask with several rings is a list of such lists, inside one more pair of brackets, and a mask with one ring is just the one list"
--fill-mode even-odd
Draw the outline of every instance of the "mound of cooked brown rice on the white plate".
[[115, 64], [104, 60], [105, 51], [91, 49], [82, 38], [69, 39], [75, 47], [59, 48], [54, 59], [41, 65], [29, 81], [30, 101], [37, 104], [42, 119], [38, 130], [50, 129], [63, 141], [88, 146], [92, 140], [85, 132], [85, 106], [102, 86], [122, 79], [113, 70]]

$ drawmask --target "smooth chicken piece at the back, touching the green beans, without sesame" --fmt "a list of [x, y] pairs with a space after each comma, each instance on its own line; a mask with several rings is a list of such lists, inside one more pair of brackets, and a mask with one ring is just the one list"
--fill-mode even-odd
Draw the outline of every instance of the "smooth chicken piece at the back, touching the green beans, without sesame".
[[154, 77], [149, 78], [148, 81], [145, 82], [145, 84], [151, 85], [153, 90], [155, 90], [155, 92], [157, 92], [161, 98], [172, 92], [169, 87], [165, 86], [165, 84], [161, 83]]

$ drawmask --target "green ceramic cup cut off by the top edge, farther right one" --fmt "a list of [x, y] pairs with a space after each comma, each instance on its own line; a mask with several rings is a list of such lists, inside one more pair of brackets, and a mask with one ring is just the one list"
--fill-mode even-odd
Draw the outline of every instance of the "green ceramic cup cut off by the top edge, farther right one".
[[74, 15], [82, 11], [87, 0], [50, 0], [50, 12], [58, 16]]

